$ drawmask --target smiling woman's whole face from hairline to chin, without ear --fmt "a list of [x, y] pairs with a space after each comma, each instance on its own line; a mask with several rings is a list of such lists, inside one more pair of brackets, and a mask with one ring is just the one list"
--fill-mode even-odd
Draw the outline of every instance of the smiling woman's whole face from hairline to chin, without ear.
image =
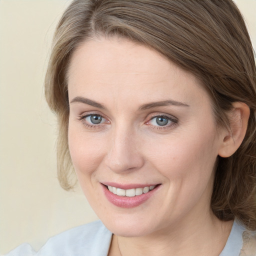
[[210, 215], [222, 139], [192, 74], [134, 42], [94, 39], [71, 58], [68, 97], [71, 159], [108, 229], [145, 235]]

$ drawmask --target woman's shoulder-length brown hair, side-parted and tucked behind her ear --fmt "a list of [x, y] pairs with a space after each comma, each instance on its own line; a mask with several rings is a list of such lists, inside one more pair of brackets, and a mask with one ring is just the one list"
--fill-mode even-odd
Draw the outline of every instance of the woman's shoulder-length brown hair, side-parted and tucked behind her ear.
[[216, 126], [228, 126], [232, 102], [250, 108], [238, 150], [218, 157], [211, 209], [256, 229], [256, 70], [243, 18], [231, 0], [74, 0], [60, 19], [45, 76], [45, 95], [59, 124], [58, 178], [70, 189], [66, 73], [72, 52], [95, 35], [122, 36], [151, 47], [202, 82]]

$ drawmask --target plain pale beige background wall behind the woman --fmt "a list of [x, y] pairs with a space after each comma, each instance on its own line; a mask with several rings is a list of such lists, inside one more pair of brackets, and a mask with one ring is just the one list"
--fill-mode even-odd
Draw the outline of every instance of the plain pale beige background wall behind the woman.
[[[43, 96], [51, 37], [68, 0], [0, 0], [0, 254], [38, 249], [96, 219], [79, 188], [56, 179], [56, 125]], [[256, 45], [256, 0], [236, 0]]]

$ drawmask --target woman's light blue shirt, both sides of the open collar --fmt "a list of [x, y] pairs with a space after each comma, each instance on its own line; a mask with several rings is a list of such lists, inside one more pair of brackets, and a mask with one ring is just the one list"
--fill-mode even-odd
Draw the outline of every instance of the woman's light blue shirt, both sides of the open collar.
[[[219, 256], [256, 256], [240, 254], [246, 229], [234, 221], [226, 245]], [[48, 239], [38, 252], [23, 243], [5, 256], [107, 256], [112, 233], [98, 220], [74, 227]]]

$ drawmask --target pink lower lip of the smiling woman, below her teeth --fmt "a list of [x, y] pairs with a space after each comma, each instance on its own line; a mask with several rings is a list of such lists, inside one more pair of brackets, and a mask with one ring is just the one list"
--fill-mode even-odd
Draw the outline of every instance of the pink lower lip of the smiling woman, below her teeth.
[[104, 190], [104, 194], [109, 202], [111, 202], [112, 204], [114, 204], [115, 206], [118, 206], [118, 207], [133, 208], [133, 207], [136, 207], [136, 206], [142, 204], [147, 199], [149, 199], [154, 194], [154, 192], [156, 190], [158, 190], [159, 185], [147, 193], [135, 195], [132, 197], [113, 194], [106, 188], [105, 185], [102, 185], [102, 187]]

